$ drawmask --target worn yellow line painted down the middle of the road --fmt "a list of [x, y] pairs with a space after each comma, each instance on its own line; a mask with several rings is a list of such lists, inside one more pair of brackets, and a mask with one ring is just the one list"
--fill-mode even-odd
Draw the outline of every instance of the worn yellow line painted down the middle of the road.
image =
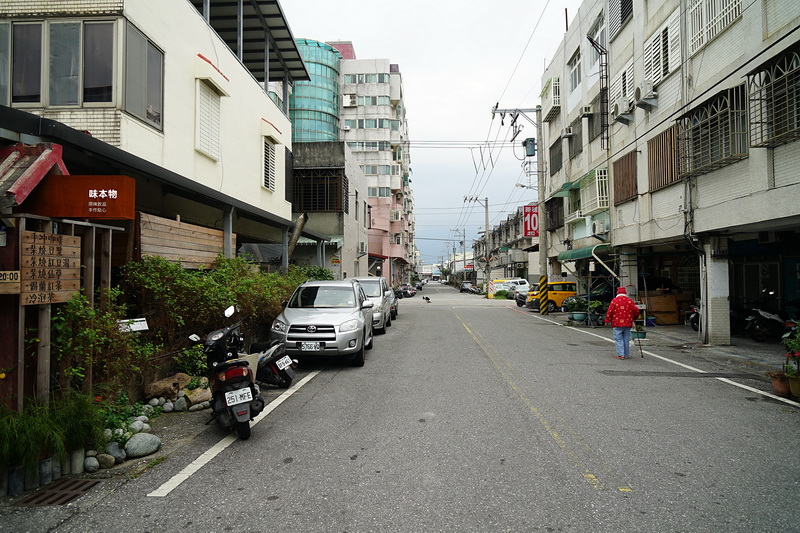
[[[575, 468], [580, 472], [583, 480], [586, 481], [586, 483], [588, 483], [595, 490], [604, 489], [605, 486], [603, 485], [603, 483], [595, 474], [591, 472], [589, 467], [583, 463], [580, 456], [572, 448], [572, 446], [570, 446], [569, 442], [567, 442], [567, 440], [556, 430], [555, 426], [544, 416], [542, 411], [533, 403], [533, 401], [530, 398], [528, 398], [528, 396], [525, 395], [525, 393], [522, 390], [522, 387], [519, 386], [519, 384], [514, 380], [514, 378], [502, 368], [503, 366], [505, 366], [513, 371], [513, 366], [511, 366], [511, 364], [507, 362], [507, 360], [505, 360], [505, 358], [497, 350], [495, 350], [487, 342], [485, 342], [481, 338], [480, 334], [473, 332], [467, 325], [467, 323], [464, 322], [464, 320], [458, 315], [458, 313], [455, 312], [455, 310], [453, 310], [453, 314], [456, 316], [456, 318], [458, 318], [459, 322], [461, 322], [461, 325], [464, 326], [464, 329], [467, 330], [467, 333], [469, 333], [469, 335], [472, 337], [475, 343], [481, 348], [481, 350], [483, 350], [483, 352], [486, 354], [486, 356], [489, 358], [489, 360], [492, 362], [495, 368], [497, 368], [500, 375], [503, 377], [503, 379], [506, 380], [506, 383], [508, 383], [508, 385], [514, 390], [514, 392], [516, 392], [519, 399], [522, 400], [522, 402], [526, 405], [531, 414], [533, 414], [533, 416], [536, 418], [539, 424], [544, 428], [544, 430], [547, 432], [550, 438], [553, 439], [553, 442], [555, 442], [556, 445], [562, 450], [562, 452], [564, 452], [564, 454], [574, 463]], [[566, 425], [566, 422], [562, 421], [562, 423]], [[567, 432], [573, 434], [578, 439], [579, 442], [580, 440], [582, 440], [575, 434], [574, 431], [568, 430]], [[583, 444], [583, 446], [587, 450], [591, 451], [588, 445], [586, 445], [585, 443]], [[616, 487], [616, 490], [619, 492], [633, 491], [633, 489], [631, 489], [631, 487], [627, 485], [618, 486]]]

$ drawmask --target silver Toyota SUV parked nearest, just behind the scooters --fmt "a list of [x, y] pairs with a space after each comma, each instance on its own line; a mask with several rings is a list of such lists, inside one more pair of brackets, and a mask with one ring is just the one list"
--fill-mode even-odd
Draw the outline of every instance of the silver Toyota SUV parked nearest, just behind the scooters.
[[283, 341], [288, 355], [345, 356], [364, 366], [374, 305], [355, 280], [307, 281], [272, 322], [270, 338]]

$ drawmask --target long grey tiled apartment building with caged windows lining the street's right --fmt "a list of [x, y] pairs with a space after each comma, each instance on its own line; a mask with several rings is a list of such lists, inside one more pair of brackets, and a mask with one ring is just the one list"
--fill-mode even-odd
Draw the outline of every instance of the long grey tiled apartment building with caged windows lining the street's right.
[[662, 323], [698, 301], [716, 344], [731, 307], [800, 296], [799, 24], [793, 0], [581, 5], [542, 77], [551, 276]]

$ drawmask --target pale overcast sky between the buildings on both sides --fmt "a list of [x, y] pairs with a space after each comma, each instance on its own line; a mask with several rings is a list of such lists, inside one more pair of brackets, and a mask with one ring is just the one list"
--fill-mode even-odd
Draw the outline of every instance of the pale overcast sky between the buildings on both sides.
[[[541, 77], [579, 0], [281, 0], [295, 38], [352, 41], [359, 59], [389, 59], [403, 75], [411, 140], [416, 238], [421, 259], [439, 263], [466, 230], [467, 249], [484, 227], [505, 220], [536, 191], [521, 167], [524, 129], [492, 107], [534, 108]], [[531, 119], [534, 118], [530, 114]], [[450, 241], [450, 244], [447, 244]], [[460, 243], [456, 244], [461, 251]]]

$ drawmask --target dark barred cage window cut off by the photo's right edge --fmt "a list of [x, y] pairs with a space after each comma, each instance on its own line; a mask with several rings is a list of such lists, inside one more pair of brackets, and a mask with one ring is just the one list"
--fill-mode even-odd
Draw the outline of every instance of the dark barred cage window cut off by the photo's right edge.
[[747, 77], [750, 145], [778, 146], [800, 137], [800, 47]]

